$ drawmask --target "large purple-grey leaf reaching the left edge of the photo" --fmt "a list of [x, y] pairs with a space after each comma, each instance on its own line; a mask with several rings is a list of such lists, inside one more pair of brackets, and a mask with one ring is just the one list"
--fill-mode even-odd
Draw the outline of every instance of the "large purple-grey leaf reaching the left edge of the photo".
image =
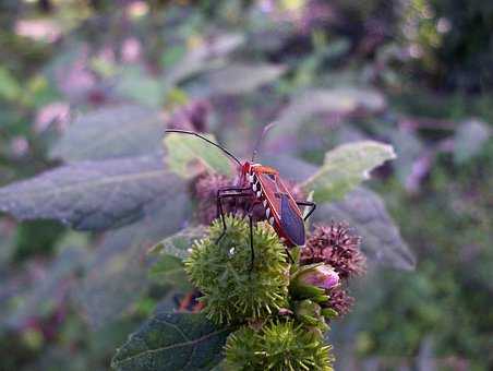
[[57, 219], [104, 230], [142, 216], [143, 207], [183, 189], [160, 156], [84, 161], [0, 189], [0, 211], [17, 219]]

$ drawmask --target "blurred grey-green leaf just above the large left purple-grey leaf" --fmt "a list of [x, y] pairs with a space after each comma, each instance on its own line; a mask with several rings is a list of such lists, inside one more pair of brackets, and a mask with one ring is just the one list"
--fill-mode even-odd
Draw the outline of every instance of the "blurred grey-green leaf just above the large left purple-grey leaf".
[[145, 155], [158, 151], [164, 131], [164, 120], [151, 108], [103, 108], [77, 117], [50, 156], [73, 163]]

